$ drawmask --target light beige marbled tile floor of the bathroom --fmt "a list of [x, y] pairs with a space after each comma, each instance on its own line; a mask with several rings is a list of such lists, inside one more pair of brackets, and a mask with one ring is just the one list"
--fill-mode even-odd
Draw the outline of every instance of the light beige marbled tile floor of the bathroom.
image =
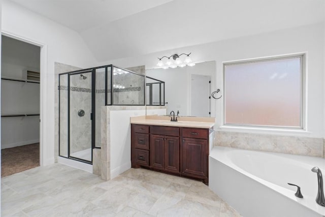
[[53, 164], [1, 185], [2, 216], [241, 216], [202, 182], [144, 169], [104, 181]]

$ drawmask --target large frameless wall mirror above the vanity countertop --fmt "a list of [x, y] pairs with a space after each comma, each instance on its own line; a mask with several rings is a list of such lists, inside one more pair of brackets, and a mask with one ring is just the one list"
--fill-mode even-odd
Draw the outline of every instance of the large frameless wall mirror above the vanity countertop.
[[[168, 69], [146, 70], [147, 106], [165, 105], [166, 115], [179, 111], [179, 116], [210, 117], [211, 82], [215, 61]], [[148, 113], [147, 113], [148, 114]]]

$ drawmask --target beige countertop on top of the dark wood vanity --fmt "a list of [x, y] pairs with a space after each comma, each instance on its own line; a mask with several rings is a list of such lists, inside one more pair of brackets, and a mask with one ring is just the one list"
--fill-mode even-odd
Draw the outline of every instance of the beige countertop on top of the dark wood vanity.
[[178, 121], [170, 121], [169, 116], [147, 115], [131, 117], [131, 123], [139, 125], [157, 125], [170, 127], [207, 128], [214, 126], [214, 117], [178, 117]]

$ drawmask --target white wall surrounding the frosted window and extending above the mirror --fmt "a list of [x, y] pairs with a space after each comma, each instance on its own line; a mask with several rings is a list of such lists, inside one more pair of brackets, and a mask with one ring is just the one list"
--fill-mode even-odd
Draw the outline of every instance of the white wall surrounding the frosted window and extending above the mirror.
[[[157, 57], [172, 55], [175, 52], [192, 52], [193, 61], [216, 61], [216, 88], [222, 89], [222, 62], [247, 58], [307, 52], [307, 130], [308, 133], [268, 132], [280, 135], [299, 135], [322, 137], [324, 134], [324, 97], [323, 97], [323, 59], [324, 59], [324, 23], [300, 26], [270, 32], [266, 34], [229, 39], [219, 42], [178, 48], [164, 52], [151, 53], [136, 58], [109, 60], [106, 63], [121, 67], [146, 65], [152, 69]], [[102, 63], [105, 64], [105, 63]], [[102, 65], [100, 64], [100, 65]], [[213, 90], [213, 89], [212, 89]], [[222, 93], [221, 93], [222, 94]], [[222, 120], [222, 101], [216, 102], [216, 129], [220, 130]], [[238, 130], [240, 131], [240, 130]], [[242, 131], [243, 132], [243, 131]], [[259, 132], [247, 130], [247, 132]], [[264, 132], [266, 133], [266, 132]]]

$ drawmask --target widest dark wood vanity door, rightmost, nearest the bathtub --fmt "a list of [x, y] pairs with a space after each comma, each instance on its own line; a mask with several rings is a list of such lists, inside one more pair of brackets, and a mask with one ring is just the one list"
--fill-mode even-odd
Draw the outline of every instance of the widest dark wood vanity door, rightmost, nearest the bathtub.
[[183, 138], [181, 175], [193, 178], [208, 176], [208, 142], [206, 139]]

